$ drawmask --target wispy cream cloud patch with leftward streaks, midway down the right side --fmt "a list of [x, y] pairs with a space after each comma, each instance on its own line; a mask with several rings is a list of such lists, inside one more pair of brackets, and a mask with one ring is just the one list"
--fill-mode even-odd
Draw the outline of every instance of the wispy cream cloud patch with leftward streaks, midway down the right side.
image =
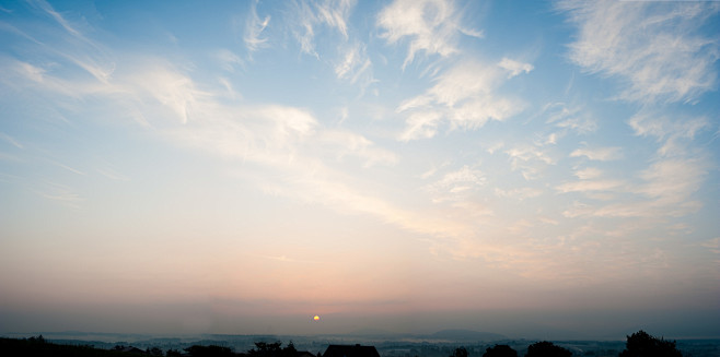
[[[607, 191], [620, 194], [603, 205], [576, 206], [569, 216], [602, 217], [678, 217], [696, 212], [701, 203], [694, 194], [700, 189], [710, 170], [707, 153], [693, 145], [695, 135], [708, 128], [705, 118], [670, 119], [664, 115], [643, 110], [630, 118], [628, 124], [638, 136], [655, 138], [658, 150], [648, 166], [623, 179], [601, 179], [601, 171], [577, 171], [580, 181], [558, 186], [561, 192]], [[581, 156], [578, 153], [577, 156]], [[582, 152], [582, 156], [588, 156]], [[592, 155], [597, 155], [594, 152]], [[600, 157], [606, 157], [600, 153]], [[612, 154], [612, 151], [611, 151]], [[612, 156], [612, 155], [611, 155]], [[590, 156], [588, 156], [591, 158]]]

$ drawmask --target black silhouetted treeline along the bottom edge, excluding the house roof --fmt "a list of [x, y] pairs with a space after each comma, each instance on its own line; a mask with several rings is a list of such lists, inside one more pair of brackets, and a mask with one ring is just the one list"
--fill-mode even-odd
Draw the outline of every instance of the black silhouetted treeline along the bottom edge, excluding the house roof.
[[[374, 348], [373, 348], [374, 349]], [[28, 356], [28, 357], [130, 357], [130, 356], [166, 356], [166, 357], [312, 357], [307, 352], [299, 352], [292, 342], [282, 347], [282, 343], [255, 343], [255, 348], [245, 353], [235, 353], [230, 347], [209, 345], [193, 345], [183, 350], [152, 347], [139, 349], [132, 346], [116, 345], [112, 349], [94, 348], [84, 345], [59, 345], [47, 342], [43, 335], [30, 338], [4, 338], [0, 337], [0, 356]], [[551, 342], [542, 341], [527, 346], [525, 357], [571, 357], [573, 353]], [[574, 355], [581, 356], [581, 355]], [[584, 355], [582, 355], [584, 356]], [[651, 336], [644, 331], [638, 331], [627, 336], [626, 347], [619, 353], [618, 357], [682, 357], [683, 354], [677, 349], [675, 341], [667, 341], [663, 337]], [[322, 357], [318, 353], [317, 357]], [[364, 356], [353, 356], [364, 357]], [[422, 356], [418, 356], [422, 357]], [[452, 356], [449, 357], [522, 357], [515, 349], [509, 345], [495, 345], [488, 347], [481, 356], [471, 356], [465, 347], [455, 348]]]

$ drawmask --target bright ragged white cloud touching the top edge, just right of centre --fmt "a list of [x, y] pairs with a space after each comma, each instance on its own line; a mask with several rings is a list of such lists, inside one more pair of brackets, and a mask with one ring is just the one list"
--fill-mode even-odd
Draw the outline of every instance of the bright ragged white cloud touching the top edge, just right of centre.
[[419, 51], [442, 57], [457, 52], [458, 34], [481, 36], [477, 31], [464, 29], [453, 2], [445, 0], [396, 0], [380, 12], [378, 26], [385, 31], [380, 36], [390, 44], [409, 38], [403, 69]]

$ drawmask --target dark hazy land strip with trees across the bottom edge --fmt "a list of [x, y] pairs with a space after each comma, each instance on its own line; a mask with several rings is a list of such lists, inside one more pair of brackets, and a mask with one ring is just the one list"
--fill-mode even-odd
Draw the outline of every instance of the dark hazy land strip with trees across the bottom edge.
[[[293, 336], [282, 347], [277, 336], [209, 335], [202, 340], [148, 338], [128, 342], [0, 337], [0, 356], [243, 356], [243, 357], [323, 357], [330, 344], [355, 345], [353, 340]], [[503, 347], [518, 357], [592, 356], [592, 357], [720, 357], [720, 340], [667, 341], [642, 331], [628, 341], [357, 341], [373, 345], [381, 357], [492, 357]], [[551, 345], [555, 353], [538, 354], [533, 346]], [[652, 349], [655, 348], [655, 349]], [[661, 348], [661, 349], [658, 349]], [[557, 353], [560, 353], [559, 355]], [[364, 356], [348, 356], [364, 357]]]

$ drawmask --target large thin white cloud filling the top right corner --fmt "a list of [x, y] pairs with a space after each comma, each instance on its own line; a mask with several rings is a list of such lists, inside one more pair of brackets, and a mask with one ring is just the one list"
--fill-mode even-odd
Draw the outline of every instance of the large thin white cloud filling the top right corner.
[[715, 88], [715, 38], [696, 33], [720, 5], [701, 1], [561, 1], [578, 39], [570, 58], [628, 82], [619, 98], [693, 100]]

